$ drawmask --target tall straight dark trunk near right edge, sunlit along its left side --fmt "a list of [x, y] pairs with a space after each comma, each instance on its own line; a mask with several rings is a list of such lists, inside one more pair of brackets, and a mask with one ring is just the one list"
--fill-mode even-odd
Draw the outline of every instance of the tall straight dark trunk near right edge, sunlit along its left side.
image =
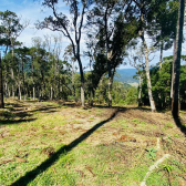
[[172, 99], [172, 114], [174, 117], [179, 115], [179, 74], [180, 74], [180, 53], [183, 41], [184, 27], [184, 9], [185, 0], [179, 0], [177, 33], [176, 33], [176, 49], [173, 61], [173, 99]]

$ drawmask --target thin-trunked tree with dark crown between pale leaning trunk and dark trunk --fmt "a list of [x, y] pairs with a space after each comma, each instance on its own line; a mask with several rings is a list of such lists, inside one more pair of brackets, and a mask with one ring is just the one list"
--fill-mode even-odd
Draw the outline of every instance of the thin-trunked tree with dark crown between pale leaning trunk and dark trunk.
[[151, 29], [147, 31], [155, 42], [154, 46], [161, 50], [159, 70], [162, 69], [163, 50], [170, 49], [176, 37], [177, 11], [177, 1], [162, 2], [159, 10], [154, 14], [155, 21], [151, 22]]

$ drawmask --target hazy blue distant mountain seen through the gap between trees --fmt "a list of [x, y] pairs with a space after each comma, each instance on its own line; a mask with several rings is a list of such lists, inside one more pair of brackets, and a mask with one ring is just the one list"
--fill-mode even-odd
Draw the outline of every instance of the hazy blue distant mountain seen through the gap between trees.
[[117, 69], [114, 81], [120, 81], [123, 83], [137, 83], [138, 80], [133, 79], [136, 75], [136, 69]]

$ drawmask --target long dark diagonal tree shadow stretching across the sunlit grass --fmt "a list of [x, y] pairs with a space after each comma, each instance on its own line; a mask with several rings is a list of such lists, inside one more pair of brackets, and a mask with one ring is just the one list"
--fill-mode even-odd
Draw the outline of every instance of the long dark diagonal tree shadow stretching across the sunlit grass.
[[81, 142], [83, 142], [85, 138], [87, 138], [92, 133], [94, 133], [99, 127], [107, 123], [108, 121], [113, 120], [115, 115], [117, 114], [118, 110], [116, 110], [110, 118], [97, 123], [94, 125], [91, 130], [82, 134], [79, 138], [71, 142], [69, 145], [65, 145], [61, 147], [56, 153], [54, 153], [50, 158], [41, 163], [38, 167], [32, 169], [31, 172], [27, 173], [24, 176], [20, 177], [18, 180], [16, 180], [11, 186], [25, 186], [30, 182], [32, 182], [39, 174], [46, 170], [54, 162], [56, 162], [61, 155], [66, 155], [69, 152], [71, 152], [75, 146], [78, 146]]

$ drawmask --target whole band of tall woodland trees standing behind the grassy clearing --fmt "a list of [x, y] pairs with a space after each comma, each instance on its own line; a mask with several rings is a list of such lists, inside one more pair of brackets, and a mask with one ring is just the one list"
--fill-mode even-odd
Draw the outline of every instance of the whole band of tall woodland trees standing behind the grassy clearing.
[[[1, 107], [3, 96], [12, 96], [80, 101], [82, 106], [85, 102], [138, 103], [151, 105], [153, 112], [172, 105], [175, 115], [178, 102], [185, 108], [183, 0], [71, 0], [66, 1], [71, 18], [60, 12], [59, 2], [44, 0], [42, 6], [53, 14], [35, 23], [58, 34], [35, 37], [31, 48], [18, 40], [29, 22], [22, 23], [9, 10], [0, 12]], [[64, 51], [63, 37], [70, 42]], [[86, 51], [82, 51], [82, 37], [86, 37]], [[163, 59], [163, 51], [172, 46], [174, 55]], [[159, 61], [151, 68], [151, 55], [157, 51]], [[83, 56], [89, 59], [89, 72], [82, 65]], [[114, 82], [116, 68], [127, 62], [137, 70], [138, 89]]]

